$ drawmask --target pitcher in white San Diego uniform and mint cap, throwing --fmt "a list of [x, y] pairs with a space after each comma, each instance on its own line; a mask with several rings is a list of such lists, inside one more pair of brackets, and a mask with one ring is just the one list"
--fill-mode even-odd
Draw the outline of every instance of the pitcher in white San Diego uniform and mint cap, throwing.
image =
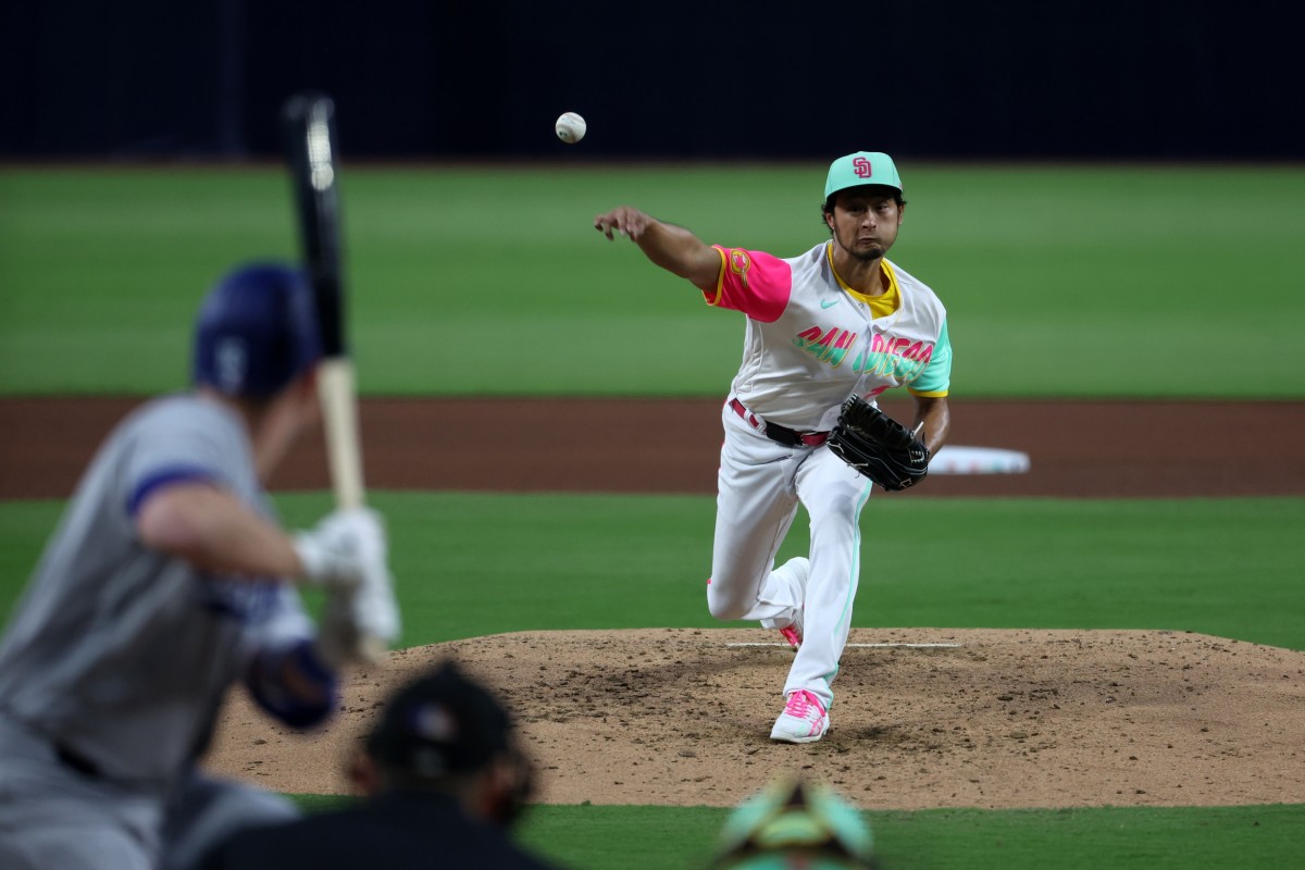
[[[743, 364], [722, 408], [707, 608], [719, 620], [760, 620], [796, 648], [770, 734], [778, 741], [812, 742], [829, 730], [852, 623], [859, 518], [872, 484], [825, 446], [843, 400], [906, 387], [930, 454], [951, 428], [946, 309], [885, 257], [904, 211], [893, 159], [859, 151], [830, 164], [829, 241], [797, 257], [707, 245], [630, 206], [594, 219], [608, 239], [628, 236], [692, 282], [709, 305], [746, 317]], [[810, 517], [810, 552], [776, 567], [799, 505]]]

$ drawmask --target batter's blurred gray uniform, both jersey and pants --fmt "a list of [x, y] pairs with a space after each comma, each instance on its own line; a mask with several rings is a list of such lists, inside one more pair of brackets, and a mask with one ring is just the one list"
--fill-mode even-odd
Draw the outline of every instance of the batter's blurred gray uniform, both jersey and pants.
[[[239, 680], [291, 724], [329, 704], [288, 703], [271, 676], [279, 656], [311, 655], [313, 623], [288, 583], [204, 574], [138, 539], [138, 506], [191, 480], [271, 517], [244, 425], [219, 403], [167, 397], [124, 420], [0, 640], [0, 867], [151, 867], [170, 813], [176, 844], [224, 828], [219, 815], [288, 813], [193, 770]], [[201, 803], [219, 815], [193, 815]]]

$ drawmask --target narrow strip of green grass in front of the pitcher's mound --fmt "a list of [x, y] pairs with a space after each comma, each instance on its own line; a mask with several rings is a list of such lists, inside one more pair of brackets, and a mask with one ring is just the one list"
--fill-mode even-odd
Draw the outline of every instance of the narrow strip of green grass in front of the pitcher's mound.
[[[305, 809], [347, 798], [304, 796]], [[521, 840], [574, 867], [706, 869], [727, 809], [539, 806]], [[927, 810], [864, 814], [883, 870], [1288, 870], [1305, 814], [1295, 806]]]

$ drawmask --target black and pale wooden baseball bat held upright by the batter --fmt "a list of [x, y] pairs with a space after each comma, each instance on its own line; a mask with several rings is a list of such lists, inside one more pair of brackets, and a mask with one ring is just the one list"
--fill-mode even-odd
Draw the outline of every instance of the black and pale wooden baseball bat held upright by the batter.
[[[339, 507], [364, 502], [363, 450], [358, 429], [358, 387], [345, 342], [345, 278], [341, 256], [339, 160], [335, 103], [325, 94], [298, 94], [283, 108], [286, 157], [304, 266], [317, 303], [322, 363], [317, 398], [326, 433], [331, 487]], [[380, 661], [385, 643], [363, 638], [363, 653]]]

